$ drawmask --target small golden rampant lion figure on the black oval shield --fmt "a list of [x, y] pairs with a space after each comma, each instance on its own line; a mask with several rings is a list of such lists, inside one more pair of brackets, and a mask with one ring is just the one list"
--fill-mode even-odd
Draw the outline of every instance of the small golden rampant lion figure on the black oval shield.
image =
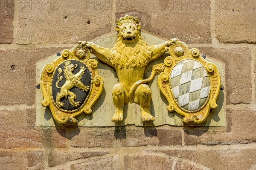
[[89, 86], [84, 86], [84, 84], [81, 83], [81, 78], [84, 75], [84, 72], [86, 69], [84, 66], [81, 66], [80, 71], [77, 74], [73, 74], [74, 69], [77, 68], [72, 64], [70, 61], [66, 61], [64, 63], [64, 76], [66, 79], [65, 84], [62, 87], [58, 86], [58, 83], [62, 81], [62, 76], [59, 76], [62, 73], [62, 69], [58, 69], [58, 81], [56, 82], [56, 87], [58, 89], [61, 89], [60, 92], [57, 93], [56, 96], [56, 104], [58, 107], [64, 107], [64, 103], [62, 103], [60, 100], [65, 96], [65, 98], [68, 97], [68, 100], [70, 101], [70, 104], [72, 104], [73, 107], [78, 107], [80, 106], [80, 101], [75, 102], [74, 100], [76, 99], [76, 94], [73, 92], [70, 92], [70, 89], [73, 88], [74, 86], [78, 87], [79, 89], [83, 91], [88, 91], [90, 88]]

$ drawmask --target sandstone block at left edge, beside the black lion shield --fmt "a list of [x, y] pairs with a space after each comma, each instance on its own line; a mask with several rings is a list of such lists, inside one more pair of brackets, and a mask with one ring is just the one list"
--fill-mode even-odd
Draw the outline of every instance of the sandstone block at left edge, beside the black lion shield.
[[35, 104], [35, 80], [41, 76], [35, 62], [66, 48], [0, 50], [0, 104]]

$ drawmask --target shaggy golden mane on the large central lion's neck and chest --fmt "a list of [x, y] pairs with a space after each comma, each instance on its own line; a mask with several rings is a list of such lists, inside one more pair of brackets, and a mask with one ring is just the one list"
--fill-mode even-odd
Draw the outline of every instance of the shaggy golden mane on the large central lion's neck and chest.
[[151, 59], [152, 50], [147, 48], [148, 44], [143, 40], [140, 32], [138, 32], [137, 43], [134, 47], [127, 47], [118, 35], [116, 44], [112, 50], [108, 52], [108, 60], [116, 68], [134, 68], [143, 67], [148, 64]]

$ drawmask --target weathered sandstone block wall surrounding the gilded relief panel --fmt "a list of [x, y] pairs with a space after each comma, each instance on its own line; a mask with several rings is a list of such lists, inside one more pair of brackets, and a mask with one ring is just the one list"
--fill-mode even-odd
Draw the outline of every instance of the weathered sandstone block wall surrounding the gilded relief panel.
[[[256, 169], [255, 0], [0, 3], [1, 170]], [[224, 127], [35, 126], [35, 63], [114, 33], [124, 14], [224, 65]]]

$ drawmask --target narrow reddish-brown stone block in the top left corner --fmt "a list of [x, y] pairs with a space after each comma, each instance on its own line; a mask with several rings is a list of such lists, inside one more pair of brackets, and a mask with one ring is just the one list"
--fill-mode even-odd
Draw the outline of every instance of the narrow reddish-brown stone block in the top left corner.
[[3, 0], [0, 4], [0, 43], [12, 43], [15, 0]]

